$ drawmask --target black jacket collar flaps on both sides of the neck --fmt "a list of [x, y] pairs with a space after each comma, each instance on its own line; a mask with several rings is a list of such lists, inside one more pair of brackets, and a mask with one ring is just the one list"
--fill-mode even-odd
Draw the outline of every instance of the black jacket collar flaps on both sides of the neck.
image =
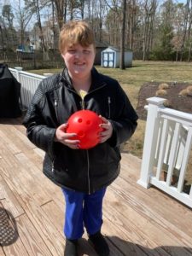
[[[66, 86], [70, 89], [73, 89], [73, 83], [72, 79], [69, 76], [67, 68], [64, 68], [62, 73], [61, 73], [61, 82], [66, 82]], [[99, 88], [101, 85], [104, 84], [104, 80], [102, 79], [102, 76], [100, 73], [97, 72], [96, 68], [93, 67], [91, 69], [91, 85], [90, 85], [90, 91], [91, 90], [96, 90]]]

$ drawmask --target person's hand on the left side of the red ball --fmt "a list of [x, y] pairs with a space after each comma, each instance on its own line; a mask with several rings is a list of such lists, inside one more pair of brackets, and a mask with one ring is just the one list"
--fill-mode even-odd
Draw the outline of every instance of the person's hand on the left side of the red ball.
[[79, 140], [72, 139], [76, 137], [76, 133], [67, 133], [65, 132], [67, 129], [67, 124], [60, 125], [55, 131], [55, 142], [62, 143], [69, 148], [78, 149], [79, 148]]

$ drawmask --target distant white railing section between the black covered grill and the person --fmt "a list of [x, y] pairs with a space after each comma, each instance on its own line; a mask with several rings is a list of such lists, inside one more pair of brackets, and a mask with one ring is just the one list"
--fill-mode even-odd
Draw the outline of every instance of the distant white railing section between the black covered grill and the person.
[[38, 88], [38, 84], [45, 79], [45, 76], [21, 71], [19, 68], [9, 68], [9, 70], [21, 84], [20, 105], [22, 110], [25, 110], [29, 107], [29, 104], [32, 101], [32, 96]]

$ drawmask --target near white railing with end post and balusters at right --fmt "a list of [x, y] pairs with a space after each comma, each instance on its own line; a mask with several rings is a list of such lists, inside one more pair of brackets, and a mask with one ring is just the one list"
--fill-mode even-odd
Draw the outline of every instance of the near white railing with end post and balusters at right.
[[[183, 191], [192, 150], [192, 114], [165, 108], [162, 98], [147, 101], [143, 161], [137, 183], [146, 189], [152, 184], [192, 207], [191, 184], [189, 192]], [[192, 174], [192, 170], [188, 172]]]

